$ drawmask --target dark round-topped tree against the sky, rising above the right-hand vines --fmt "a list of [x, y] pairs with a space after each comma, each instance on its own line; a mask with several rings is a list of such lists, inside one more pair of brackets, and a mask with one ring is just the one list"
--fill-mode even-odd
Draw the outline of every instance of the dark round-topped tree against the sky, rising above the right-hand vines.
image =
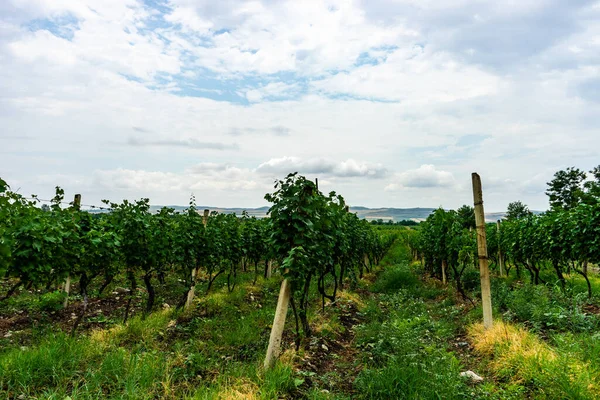
[[586, 174], [579, 168], [569, 167], [554, 174], [554, 179], [548, 182], [550, 207], [553, 210], [572, 210], [581, 202], [584, 191], [583, 182]]

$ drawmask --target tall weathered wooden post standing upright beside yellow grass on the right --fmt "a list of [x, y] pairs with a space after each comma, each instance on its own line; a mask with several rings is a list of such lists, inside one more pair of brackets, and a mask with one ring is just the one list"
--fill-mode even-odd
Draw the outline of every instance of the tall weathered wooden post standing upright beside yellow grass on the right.
[[481, 177], [472, 174], [473, 204], [475, 205], [475, 223], [477, 225], [477, 254], [479, 256], [479, 273], [481, 275], [481, 305], [483, 307], [483, 326], [492, 327], [492, 296], [490, 289], [490, 270], [488, 268], [487, 243], [485, 240], [485, 214], [483, 210], [483, 190]]

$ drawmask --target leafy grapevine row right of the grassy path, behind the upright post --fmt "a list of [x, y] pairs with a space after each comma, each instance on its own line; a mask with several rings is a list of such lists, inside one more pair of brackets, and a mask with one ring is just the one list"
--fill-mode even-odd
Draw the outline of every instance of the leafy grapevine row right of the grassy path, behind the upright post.
[[[588, 272], [600, 264], [600, 167], [590, 175], [574, 168], [559, 171], [548, 183], [549, 211], [534, 214], [515, 202], [505, 220], [486, 225], [488, 258], [499, 275], [514, 268], [518, 277], [527, 273], [532, 284], [556, 282], [565, 289], [565, 273], [576, 273], [592, 296]], [[477, 263], [474, 228], [471, 207], [440, 208], [408, 239], [426, 272], [442, 280], [447, 274], [465, 298], [463, 272]]]

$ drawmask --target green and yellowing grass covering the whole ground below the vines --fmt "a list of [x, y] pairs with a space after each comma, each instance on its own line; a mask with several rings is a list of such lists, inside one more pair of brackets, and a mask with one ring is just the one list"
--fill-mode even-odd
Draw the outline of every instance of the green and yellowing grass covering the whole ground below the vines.
[[[218, 280], [208, 295], [198, 293], [188, 312], [163, 309], [126, 325], [109, 319], [74, 338], [41, 324], [25, 345], [4, 339], [0, 397], [600, 398], [600, 323], [586, 312], [594, 301], [580, 278], [569, 278], [567, 293], [514, 277], [494, 279], [498, 320], [484, 332], [481, 309], [462, 302], [451, 285], [424, 278], [409, 256], [397, 244], [355, 290], [341, 290], [325, 310], [311, 289], [315, 335], [293, 350], [290, 312], [286, 351], [270, 371], [262, 370], [262, 361], [280, 282], [261, 278], [253, 285], [252, 274], [241, 274], [233, 293]], [[476, 299], [471, 283], [479, 278], [471, 275], [465, 286]], [[30, 311], [50, 314], [62, 302], [60, 293], [36, 296], [25, 292], [3, 307], [28, 304]], [[461, 377], [468, 369], [484, 382]]]

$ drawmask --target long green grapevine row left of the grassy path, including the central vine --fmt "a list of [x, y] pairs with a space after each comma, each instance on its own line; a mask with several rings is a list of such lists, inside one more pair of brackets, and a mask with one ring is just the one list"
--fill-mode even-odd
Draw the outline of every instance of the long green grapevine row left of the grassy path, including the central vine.
[[[284, 193], [282, 185], [296, 193]], [[26, 199], [0, 179], [0, 276], [12, 284], [3, 298], [19, 287], [51, 290], [73, 279], [87, 304], [92, 282], [102, 282], [100, 295], [115, 277], [124, 276], [131, 294], [143, 282], [150, 312], [156, 281], [164, 282], [167, 275], [182, 282], [183, 306], [199, 277], [210, 290], [225, 275], [231, 291], [240, 272], [257, 276], [264, 267], [266, 274], [274, 260], [292, 279], [305, 321], [305, 294], [313, 278], [319, 293], [334, 300], [345, 278], [352, 281], [378, 262], [393, 237], [347, 212], [341, 196], [323, 195], [297, 174], [278, 181], [276, 189], [265, 196], [273, 206], [264, 219], [217, 212], [205, 218], [193, 197], [183, 212], [164, 207], [152, 213], [149, 199], [140, 199], [109, 203], [110, 212], [94, 214], [76, 203], [61, 207], [64, 191], [58, 187], [45, 210], [35, 196]], [[125, 318], [128, 312], [129, 304]]]

